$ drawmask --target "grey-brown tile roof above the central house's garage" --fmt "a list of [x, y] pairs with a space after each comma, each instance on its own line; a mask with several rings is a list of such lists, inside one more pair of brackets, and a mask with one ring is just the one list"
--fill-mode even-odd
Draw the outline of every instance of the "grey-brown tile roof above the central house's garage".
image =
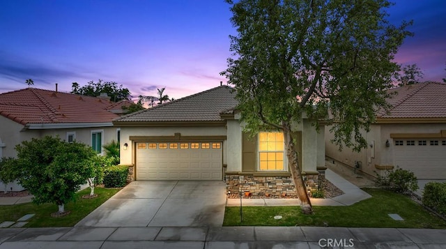
[[134, 112], [118, 122], [222, 121], [221, 112], [236, 107], [236, 93], [229, 86], [218, 86], [201, 93]]

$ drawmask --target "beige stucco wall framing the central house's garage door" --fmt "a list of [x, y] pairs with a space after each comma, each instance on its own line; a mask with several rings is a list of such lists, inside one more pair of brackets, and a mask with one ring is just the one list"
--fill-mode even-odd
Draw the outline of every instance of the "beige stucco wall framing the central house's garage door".
[[[174, 136], [180, 133], [182, 136], [226, 136], [226, 127], [121, 127], [121, 165], [134, 164], [134, 144], [130, 136]], [[124, 150], [124, 144], [128, 148]], [[223, 149], [228, 148], [223, 142]], [[227, 164], [227, 158], [223, 153], [223, 164]]]

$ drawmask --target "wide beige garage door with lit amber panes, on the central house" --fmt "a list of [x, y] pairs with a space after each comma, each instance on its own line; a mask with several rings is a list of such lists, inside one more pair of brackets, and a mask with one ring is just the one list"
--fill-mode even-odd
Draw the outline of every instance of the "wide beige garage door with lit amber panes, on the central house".
[[137, 142], [137, 180], [222, 180], [221, 142]]

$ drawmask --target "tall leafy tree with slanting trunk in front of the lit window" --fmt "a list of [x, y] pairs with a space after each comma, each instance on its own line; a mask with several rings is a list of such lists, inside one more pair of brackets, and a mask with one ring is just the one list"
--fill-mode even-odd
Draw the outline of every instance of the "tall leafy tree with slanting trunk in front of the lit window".
[[[386, 108], [386, 89], [399, 70], [392, 62], [410, 35], [386, 18], [385, 0], [239, 0], [231, 4], [233, 58], [222, 72], [236, 89], [247, 130], [284, 133], [286, 156], [304, 213], [312, 213], [291, 137], [302, 116], [334, 123], [336, 144], [367, 146], [376, 108]], [[323, 132], [323, 131], [322, 131]], [[353, 138], [353, 139], [352, 139]]]

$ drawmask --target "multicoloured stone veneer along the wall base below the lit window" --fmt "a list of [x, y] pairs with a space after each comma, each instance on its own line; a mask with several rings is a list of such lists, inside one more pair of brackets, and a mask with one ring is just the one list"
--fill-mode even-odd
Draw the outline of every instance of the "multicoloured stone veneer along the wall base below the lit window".
[[[320, 174], [319, 174], [320, 175]], [[323, 178], [323, 176], [321, 177]], [[305, 177], [307, 190], [318, 189], [318, 174]], [[296, 198], [293, 178], [291, 176], [254, 176], [253, 174], [226, 174], [226, 191], [245, 196], [249, 191], [250, 197]]]

